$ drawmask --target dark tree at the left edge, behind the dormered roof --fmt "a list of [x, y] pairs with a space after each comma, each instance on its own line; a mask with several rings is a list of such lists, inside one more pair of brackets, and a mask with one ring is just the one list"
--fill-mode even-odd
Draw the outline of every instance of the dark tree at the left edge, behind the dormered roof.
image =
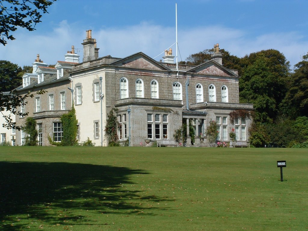
[[0, 91], [11, 91], [21, 85], [18, 73], [22, 69], [14, 63], [0, 60]]

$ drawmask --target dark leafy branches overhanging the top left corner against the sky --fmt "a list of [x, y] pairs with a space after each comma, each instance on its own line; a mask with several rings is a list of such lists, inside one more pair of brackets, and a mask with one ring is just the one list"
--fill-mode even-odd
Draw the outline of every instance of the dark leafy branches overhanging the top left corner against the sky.
[[41, 22], [42, 14], [48, 13], [47, 7], [56, 0], [2, 0], [0, 1], [0, 43], [14, 40], [11, 34], [17, 27], [24, 27], [29, 31], [35, 30]]

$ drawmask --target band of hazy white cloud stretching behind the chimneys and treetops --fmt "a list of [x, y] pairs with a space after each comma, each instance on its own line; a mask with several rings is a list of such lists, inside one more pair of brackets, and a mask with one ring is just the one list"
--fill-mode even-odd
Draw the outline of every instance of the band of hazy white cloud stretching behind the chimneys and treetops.
[[[139, 51], [155, 57], [176, 41], [174, 27], [163, 27], [148, 22], [127, 27], [93, 29], [80, 28], [77, 24], [62, 21], [44, 34], [40, 34], [40, 31], [18, 29], [14, 35], [16, 40], [8, 41], [5, 47], [0, 46], [0, 59], [23, 66], [31, 65], [36, 54], [40, 54], [45, 63], [55, 64], [57, 60], [64, 59], [71, 45], [79, 51], [82, 59], [81, 43], [86, 37], [87, 29], [92, 29], [92, 38], [96, 39], [97, 47], [100, 48], [100, 57], [111, 55], [123, 58]], [[178, 38], [179, 60], [180, 55], [185, 60], [190, 54], [210, 49], [219, 43], [221, 48], [238, 57], [265, 49], [277, 49], [294, 65], [306, 54], [307, 51], [303, 49], [308, 47], [308, 41], [304, 41], [296, 32], [261, 34], [252, 38], [241, 30], [219, 25], [181, 28]], [[172, 49], [175, 55], [175, 45]], [[156, 60], [162, 56], [158, 56]]]

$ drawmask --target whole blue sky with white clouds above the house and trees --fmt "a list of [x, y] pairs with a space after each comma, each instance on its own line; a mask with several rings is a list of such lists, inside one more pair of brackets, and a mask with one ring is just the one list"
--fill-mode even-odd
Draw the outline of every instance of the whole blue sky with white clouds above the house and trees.
[[179, 61], [216, 43], [238, 57], [277, 49], [291, 67], [308, 51], [306, 0], [58, 0], [36, 30], [19, 28], [16, 40], [0, 45], [0, 59], [23, 66], [40, 54], [55, 64], [74, 45], [82, 60], [81, 43], [91, 29], [99, 57], [142, 51], [160, 60], [176, 41], [176, 3]]

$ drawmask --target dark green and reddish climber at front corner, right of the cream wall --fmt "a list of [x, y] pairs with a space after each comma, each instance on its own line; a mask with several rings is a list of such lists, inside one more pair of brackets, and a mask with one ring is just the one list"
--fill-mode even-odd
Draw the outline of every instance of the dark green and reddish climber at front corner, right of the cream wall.
[[108, 146], [120, 146], [119, 136], [118, 136], [118, 128], [119, 122], [113, 111], [116, 113], [118, 111], [117, 108], [112, 108], [107, 115], [105, 132], [107, 136]]

